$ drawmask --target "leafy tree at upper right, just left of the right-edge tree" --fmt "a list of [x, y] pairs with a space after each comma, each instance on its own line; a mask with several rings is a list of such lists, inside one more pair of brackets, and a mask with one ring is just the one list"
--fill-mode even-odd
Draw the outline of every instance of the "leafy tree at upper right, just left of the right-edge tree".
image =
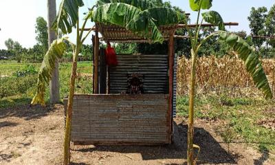
[[[265, 35], [265, 19], [267, 17], [267, 8], [252, 8], [248, 21], [250, 21], [250, 29], [252, 36]], [[252, 42], [256, 47], [256, 50], [260, 50], [261, 46], [265, 42], [265, 39], [259, 39], [252, 37]]]

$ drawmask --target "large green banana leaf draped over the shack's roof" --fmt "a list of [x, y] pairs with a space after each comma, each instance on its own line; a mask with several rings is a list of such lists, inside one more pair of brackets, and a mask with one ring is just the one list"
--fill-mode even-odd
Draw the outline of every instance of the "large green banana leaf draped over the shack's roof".
[[92, 21], [124, 27], [151, 39], [153, 43], [164, 41], [159, 25], [177, 24], [186, 18], [185, 14], [170, 8], [157, 7], [142, 11], [126, 3], [107, 3], [92, 12]]

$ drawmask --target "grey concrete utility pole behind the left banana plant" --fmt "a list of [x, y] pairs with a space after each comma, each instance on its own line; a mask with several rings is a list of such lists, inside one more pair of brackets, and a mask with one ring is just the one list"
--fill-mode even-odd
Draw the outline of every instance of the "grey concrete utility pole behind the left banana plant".
[[[47, 32], [48, 32], [48, 44], [49, 47], [56, 39], [56, 33], [52, 30], [52, 23], [56, 18], [56, 0], [47, 0]], [[59, 70], [58, 61], [55, 62], [54, 74], [52, 80], [50, 81], [50, 103], [54, 104], [60, 102], [59, 96]]]

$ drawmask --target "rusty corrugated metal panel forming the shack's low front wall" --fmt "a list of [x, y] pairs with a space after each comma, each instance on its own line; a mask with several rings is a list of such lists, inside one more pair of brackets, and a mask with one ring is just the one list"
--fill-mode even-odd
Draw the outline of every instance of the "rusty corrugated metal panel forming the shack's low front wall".
[[167, 144], [168, 95], [76, 95], [72, 142]]

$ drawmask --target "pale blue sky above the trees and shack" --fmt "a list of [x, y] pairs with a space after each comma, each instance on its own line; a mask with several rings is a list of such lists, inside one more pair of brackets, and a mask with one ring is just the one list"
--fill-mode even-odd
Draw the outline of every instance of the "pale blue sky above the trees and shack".
[[[61, 0], [56, 0], [56, 5]], [[85, 7], [80, 13], [87, 11], [87, 7], [94, 4], [94, 0], [83, 0]], [[170, 0], [172, 5], [177, 5], [191, 14], [191, 23], [195, 22], [196, 13], [191, 12], [188, 0]], [[270, 8], [274, 0], [213, 0], [212, 10], [221, 14], [225, 22], [239, 22], [239, 26], [231, 27], [228, 30], [245, 30], [250, 32], [247, 17], [252, 7], [266, 6]], [[5, 40], [11, 38], [19, 41], [23, 47], [32, 47], [36, 44], [35, 40], [35, 21], [36, 17], [44, 17], [47, 20], [47, 0], [1, 0], [0, 1], [0, 49], [6, 49]], [[91, 27], [91, 23], [87, 25]], [[74, 41], [74, 34], [70, 37]], [[87, 39], [86, 43], [91, 43]]]

